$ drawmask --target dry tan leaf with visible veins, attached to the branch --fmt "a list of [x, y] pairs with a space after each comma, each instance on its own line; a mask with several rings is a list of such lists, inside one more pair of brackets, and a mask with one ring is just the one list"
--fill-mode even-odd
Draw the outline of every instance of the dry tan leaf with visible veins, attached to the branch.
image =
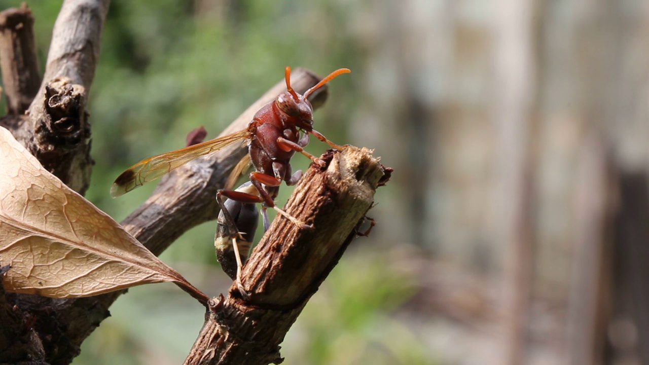
[[47, 297], [94, 296], [171, 281], [208, 297], [110, 216], [43, 169], [0, 127], [0, 266], [5, 290]]

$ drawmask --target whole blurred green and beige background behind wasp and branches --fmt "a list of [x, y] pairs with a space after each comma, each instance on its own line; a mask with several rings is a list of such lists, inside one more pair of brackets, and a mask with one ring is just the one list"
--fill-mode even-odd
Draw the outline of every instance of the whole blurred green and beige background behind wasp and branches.
[[[29, 6], [44, 62], [60, 1]], [[125, 168], [214, 138], [284, 66], [347, 67], [316, 128], [395, 172], [284, 364], [649, 364], [648, 38], [646, 0], [112, 0], [86, 196], [122, 220], [154, 188], [110, 199]], [[212, 296], [214, 231], [162, 255]], [[172, 284], [111, 313], [75, 364], [178, 364], [203, 318]]]

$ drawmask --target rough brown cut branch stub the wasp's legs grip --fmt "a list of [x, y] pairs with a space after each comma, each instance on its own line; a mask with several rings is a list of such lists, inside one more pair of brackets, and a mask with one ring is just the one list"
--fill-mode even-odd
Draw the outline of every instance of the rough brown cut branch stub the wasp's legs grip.
[[374, 192], [389, 177], [378, 158], [349, 146], [312, 164], [286, 211], [313, 229], [285, 218], [273, 221], [243, 270], [243, 299], [236, 284], [210, 313], [186, 365], [279, 364], [279, 345], [308, 299], [336, 266], [372, 207]]

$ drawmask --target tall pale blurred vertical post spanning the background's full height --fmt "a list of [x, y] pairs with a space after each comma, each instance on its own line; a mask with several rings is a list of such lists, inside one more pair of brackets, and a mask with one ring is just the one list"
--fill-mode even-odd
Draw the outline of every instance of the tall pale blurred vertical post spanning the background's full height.
[[504, 364], [524, 364], [534, 244], [535, 1], [501, 0], [495, 18], [498, 229], [504, 263]]

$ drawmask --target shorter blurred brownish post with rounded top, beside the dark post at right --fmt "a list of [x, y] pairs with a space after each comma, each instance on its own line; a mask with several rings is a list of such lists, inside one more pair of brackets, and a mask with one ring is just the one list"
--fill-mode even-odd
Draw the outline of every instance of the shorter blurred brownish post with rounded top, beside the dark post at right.
[[576, 227], [567, 325], [568, 362], [604, 364], [613, 305], [611, 171], [599, 134], [586, 138], [576, 176]]

